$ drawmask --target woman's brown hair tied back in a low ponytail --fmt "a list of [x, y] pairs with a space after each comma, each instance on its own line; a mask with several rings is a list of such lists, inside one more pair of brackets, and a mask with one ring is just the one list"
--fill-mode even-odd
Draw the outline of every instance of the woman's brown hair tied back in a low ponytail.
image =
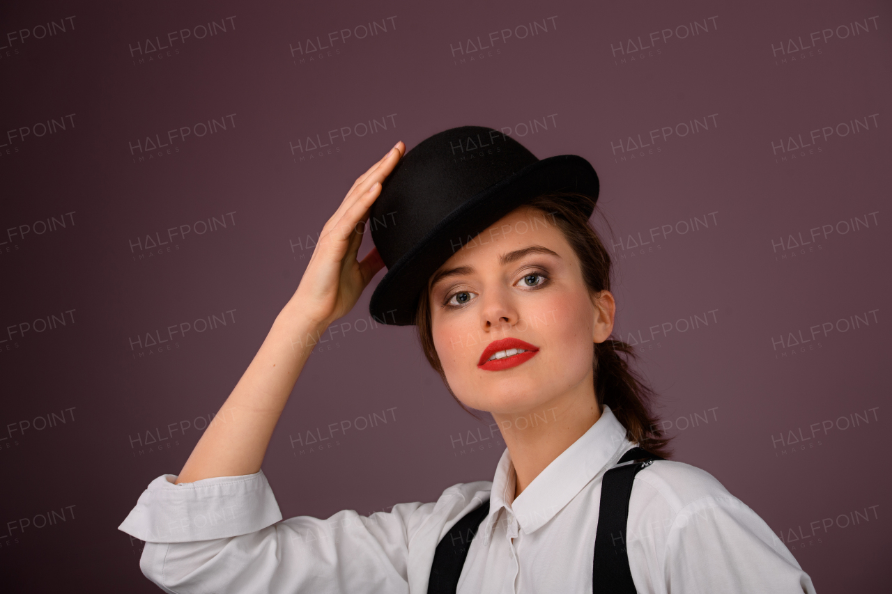
[[[598, 234], [591, 227], [588, 217], [574, 202], [588, 201], [591, 198], [582, 194], [553, 193], [544, 194], [527, 202], [526, 206], [541, 210], [555, 222], [564, 234], [567, 243], [573, 247], [582, 268], [582, 278], [591, 292], [610, 290], [610, 254], [601, 243]], [[449, 387], [443, 373], [440, 358], [434, 347], [434, 336], [431, 328], [431, 310], [427, 291], [418, 299], [416, 312], [418, 340], [425, 351], [427, 361], [440, 374], [443, 384], [472, 415]], [[656, 393], [644, 382], [642, 377], [630, 367], [629, 363], [637, 359], [631, 345], [614, 340], [612, 335], [605, 342], [595, 343], [595, 354], [592, 360], [595, 376], [595, 394], [599, 405], [607, 405], [616, 419], [625, 427], [626, 437], [636, 441], [640, 447], [667, 458], [670, 454], [668, 441], [657, 425], [657, 417], [651, 411]]]

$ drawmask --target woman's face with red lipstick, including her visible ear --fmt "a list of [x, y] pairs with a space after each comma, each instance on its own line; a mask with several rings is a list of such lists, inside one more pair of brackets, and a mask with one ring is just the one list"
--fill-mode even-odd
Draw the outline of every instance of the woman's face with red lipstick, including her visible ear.
[[613, 330], [614, 301], [607, 291], [590, 292], [548, 214], [512, 211], [432, 279], [434, 346], [467, 407], [525, 415], [591, 398], [593, 342]]

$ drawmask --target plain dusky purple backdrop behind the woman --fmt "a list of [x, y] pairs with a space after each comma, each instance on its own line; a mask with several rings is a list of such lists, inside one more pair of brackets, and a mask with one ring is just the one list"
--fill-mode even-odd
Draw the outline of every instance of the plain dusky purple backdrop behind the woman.
[[[888, 4], [17, 4], [0, 8], [4, 590], [157, 591], [142, 543], [117, 526], [147, 483], [178, 473], [353, 179], [398, 140], [461, 125], [591, 161], [617, 334], [640, 343], [675, 458], [753, 507], [818, 591], [886, 583]], [[37, 38], [48, 21], [54, 35]], [[197, 38], [210, 21], [216, 35]], [[357, 38], [371, 21], [376, 35]], [[537, 35], [518, 38], [533, 21]], [[693, 21], [698, 35], [679, 38]], [[194, 35], [145, 53], [179, 29]], [[301, 55], [341, 29], [357, 33]], [[490, 44], [502, 29], [512, 37]], [[468, 53], [478, 37], [492, 47]], [[635, 51], [639, 37], [653, 46]], [[146, 136], [230, 114], [225, 130], [141, 153]], [[389, 115], [375, 134], [354, 128]], [[53, 119], [66, 128], [38, 136]], [[681, 136], [694, 119], [707, 129]], [[357, 133], [321, 151], [290, 148], [345, 127]], [[38, 234], [53, 217], [66, 227]], [[146, 235], [212, 217], [227, 227], [145, 249]], [[450, 398], [413, 328], [368, 327], [370, 292], [310, 358], [269, 445], [286, 517], [433, 501], [491, 479], [503, 449], [467, 442], [489, 429]], [[226, 326], [132, 343], [233, 309]], [[336, 445], [293, 443], [385, 409], [386, 425]]]

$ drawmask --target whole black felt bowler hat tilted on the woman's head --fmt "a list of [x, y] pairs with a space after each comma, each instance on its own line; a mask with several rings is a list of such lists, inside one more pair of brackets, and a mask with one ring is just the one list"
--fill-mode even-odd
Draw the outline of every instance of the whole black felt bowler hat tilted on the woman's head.
[[[589, 161], [541, 161], [493, 128], [463, 126], [425, 138], [384, 180], [368, 226], [387, 266], [368, 309], [383, 324], [415, 324], [427, 281], [465, 243], [511, 210], [549, 192], [598, 199]], [[594, 200], [579, 202], [586, 217]]]

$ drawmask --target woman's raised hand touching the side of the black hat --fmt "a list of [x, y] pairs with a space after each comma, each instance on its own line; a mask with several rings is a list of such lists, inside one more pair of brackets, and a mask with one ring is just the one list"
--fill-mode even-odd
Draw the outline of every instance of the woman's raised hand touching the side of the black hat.
[[406, 146], [398, 142], [359, 176], [341, 206], [328, 219], [292, 302], [314, 326], [328, 326], [345, 316], [384, 262], [377, 248], [357, 260], [368, 210], [381, 193], [384, 178], [400, 161]]

